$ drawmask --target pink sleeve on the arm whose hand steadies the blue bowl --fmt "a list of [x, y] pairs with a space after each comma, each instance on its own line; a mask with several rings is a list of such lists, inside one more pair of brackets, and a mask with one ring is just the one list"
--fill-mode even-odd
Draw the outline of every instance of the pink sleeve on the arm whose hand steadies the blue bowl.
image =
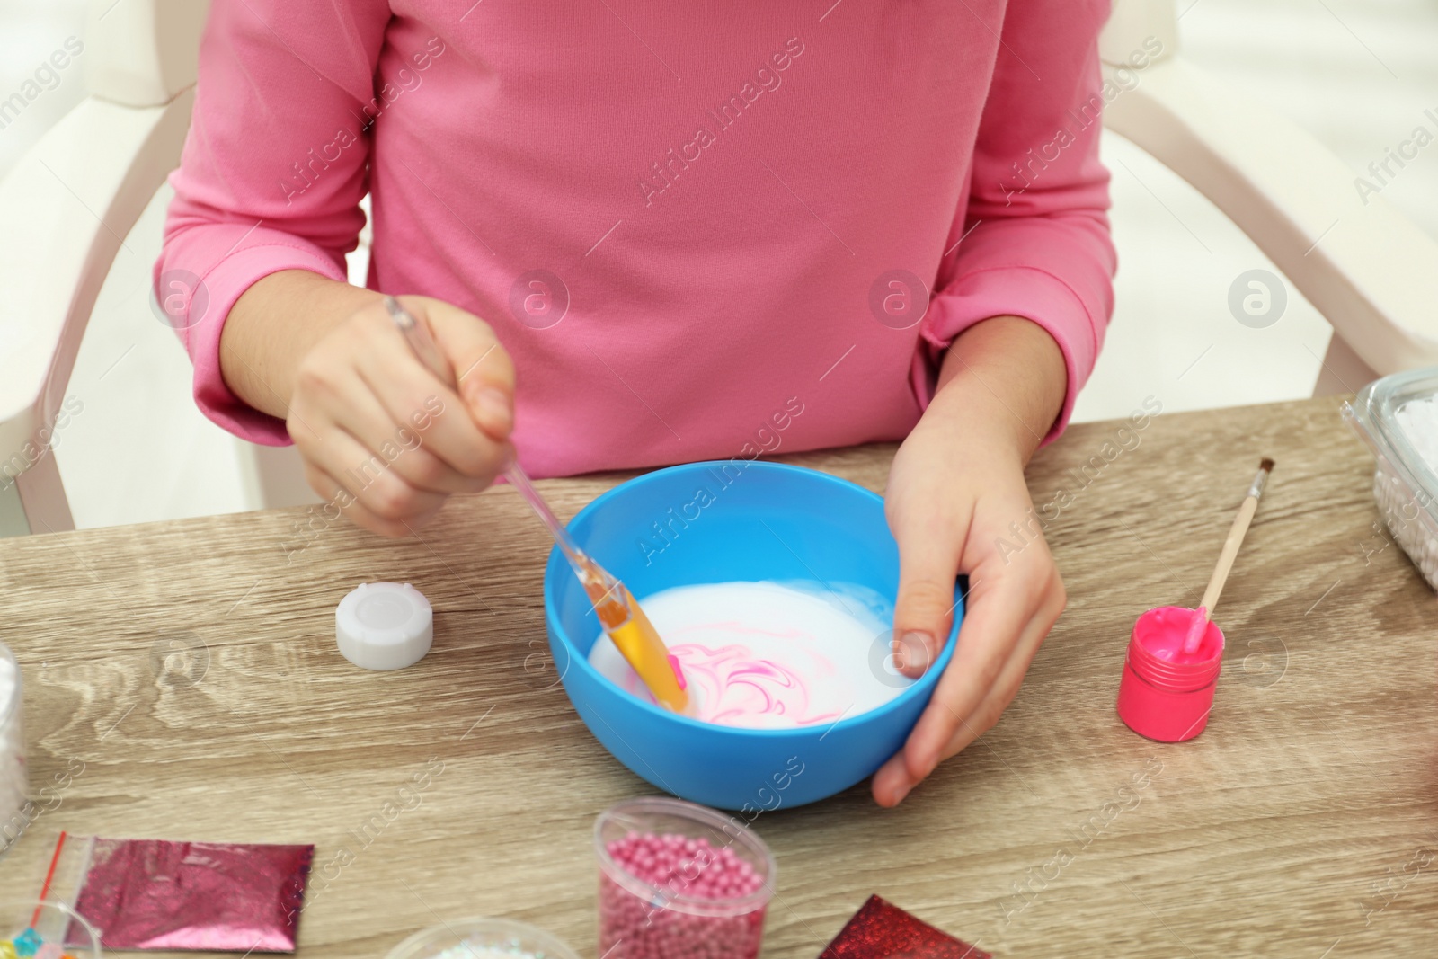
[[1113, 312], [1109, 173], [1099, 161], [1110, 91], [1097, 35], [1107, 13], [1107, 3], [1093, 0], [1009, 4], [968, 206], [953, 229], [962, 242], [922, 328], [932, 362], [992, 316], [1022, 316], [1048, 331], [1068, 390], [1045, 443], [1067, 424]]

